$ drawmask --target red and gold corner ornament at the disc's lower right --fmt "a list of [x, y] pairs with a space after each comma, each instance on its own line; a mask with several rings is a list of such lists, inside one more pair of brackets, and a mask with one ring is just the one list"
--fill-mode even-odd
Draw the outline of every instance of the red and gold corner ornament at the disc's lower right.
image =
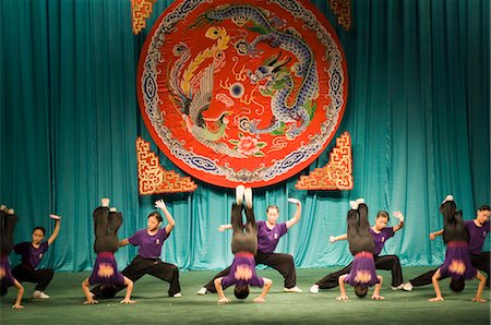
[[336, 139], [330, 162], [300, 177], [298, 190], [352, 190], [351, 136], [348, 132]]

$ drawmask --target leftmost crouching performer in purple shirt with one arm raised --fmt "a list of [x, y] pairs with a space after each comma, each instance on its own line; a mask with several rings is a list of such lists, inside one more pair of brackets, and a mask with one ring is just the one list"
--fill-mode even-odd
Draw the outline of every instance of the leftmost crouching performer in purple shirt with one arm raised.
[[48, 299], [49, 296], [45, 293], [46, 288], [51, 281], [55, 272], [51, 268], [38, 269], [43, 256], [45, 255], [48, 246], [51, 245], [60, 233], [60, 217], [57, 215], [50, 215], [51, 219], [55, 219], [55, 230], [47, 241], [45, 239], [46, 229], [41, 226], [34, 228], [32, 233], [32, 241], [24, 241], [14, 245], [13, 250], [16, 254], [21, 255], [21, 264], [12, 269], [12, 275], [20, 282], [35, 282], [35, 291], [33, 298]]

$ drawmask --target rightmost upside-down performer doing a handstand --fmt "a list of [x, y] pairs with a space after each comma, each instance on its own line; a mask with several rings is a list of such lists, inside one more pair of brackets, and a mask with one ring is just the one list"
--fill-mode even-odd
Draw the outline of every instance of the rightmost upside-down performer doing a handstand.
[[452, 277], [450, 287], [453, 291], [464, 290], [465, 280], [477, 278], [479, 280], [478, 290], [472, 301], [486, 302], [481, 298], [486, 286], [486, 277], [470, 264], [468, 250], [468, 233], [462, 219], [462, 210], [456, 209], [454, 197], [447, 195], [440, 206], [440, 213], [444, 218], [443, 241], [446, 243], [445, 261], [431, 278], [433, 282], [435, 298], [429, 301], [443, 301], [439, 280], [443, 277]]

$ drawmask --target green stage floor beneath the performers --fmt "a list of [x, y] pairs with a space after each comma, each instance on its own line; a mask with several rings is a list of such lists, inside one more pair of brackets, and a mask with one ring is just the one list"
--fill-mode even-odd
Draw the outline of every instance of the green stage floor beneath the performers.
[[[428, 302], [434, 297], [432, 286], [417, 288], [412, 292], [392, 291], [390, 289], [390, 273], [384, 276], [382, 296], [384, 301], [356, 298], [351, 289], [349, 301], [336, 301], [338, 290], [321, 290], [320, 293], [309, 293], [309, 288], [315, 280], [337, 267], [322, 269], [299, 269], [298, 286], [303, 293], [284, 293], [283, 278], [272, 269], [260, 270], [260, 275], [273, 279], [273, 288], [266, 297], [266, 302], [255, 304], [251, 297], [259, 294], [253, 289], [244, 302], [237, 301], [233, 292], [227, 290], [232, 300], [229, 305], [217, 305], [216, 294], [197, 296], [196, 291], [215, 272], [181, 273], [182, 298], [168, 298], [168, 285], [151, 276], [145, 276], [135, 284], [133, 305], [119, 304], [120, 299], [99, 301], [98, 305], [83, 305], [83, 294], [80, 288], [86, 273], [57, 273], [47, 293], [48, 300], [34, 300], [31, 297], [34, 286], [25, 284], [23, 310], [12, 310], [11, 302], [15, 290], [1, 299], [1, 324], [203, 324], [203, 323], [316, 323], [333, 324], [490, 324], [490, 302], [475, 303], [477, 281], [467, 282], [463, 293], [450, 291], [447, 281], [442, 281], [444, 302]], [[430, 268], [406, 267], [405, 279], [417, 276]], [[121, 291], [120, 294], [123, 294]], [[371, 291], [370, 291], [371, 292]], [[490, 291], [484, 289], [484, 298]]]

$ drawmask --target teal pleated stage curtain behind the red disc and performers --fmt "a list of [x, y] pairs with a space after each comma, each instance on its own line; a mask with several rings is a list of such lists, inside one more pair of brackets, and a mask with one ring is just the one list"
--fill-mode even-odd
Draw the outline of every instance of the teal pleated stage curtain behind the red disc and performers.
[[[336, 28], [348, 61], [348, 103], [337, 135], [352, 135], [355, 188], [298, 191], [299, 174], [256, 190], [258, 216], [275, 203], [286, 220], [294, 214], [287, 197], [299, 198], [302, 218], [277, 251], [294, 254], [299, 267], [345, 264], [347, 242], [330, 244], [328, 238], [346, 231], [348, 201], [362, 196], [371, 220], [379, 209], [406, 215], [386, 253], [404, 265], [436, 265], [444, 245], [428, 233], [442, 228], [442, 198], [454, 194], [466, 219], [490, 203], [490, 2], [351, 2], [349, 32], [337, 25], [327, 0], [314, 4]], [[135, 71], [145, 35], [169, 3], [158, 0], [148, 28], [133, 36], [130, 0], [0, 2], [0, 203], [20, 216], [16, 242], [29, 240], [37, 225], [50, 232], [51, 212], [63, 216], [44, 258], [57, 270], [92, 268], [92, 212], [103, 196], [123, 213], [120, 238], [146, 227], [155, 200], [167, 202], [176, 228], [165, 261], [182, 269], [231, 262], [231, 234], [217, 231], [228, 222], [231, 190], [196, 181], [192, 194], [137, 193], [135, 139], [151, 136], [136, 103]], [[332, 146], [302, 174], [324, 166]], [[119, 266], [135, 253], [118, 251]]]

